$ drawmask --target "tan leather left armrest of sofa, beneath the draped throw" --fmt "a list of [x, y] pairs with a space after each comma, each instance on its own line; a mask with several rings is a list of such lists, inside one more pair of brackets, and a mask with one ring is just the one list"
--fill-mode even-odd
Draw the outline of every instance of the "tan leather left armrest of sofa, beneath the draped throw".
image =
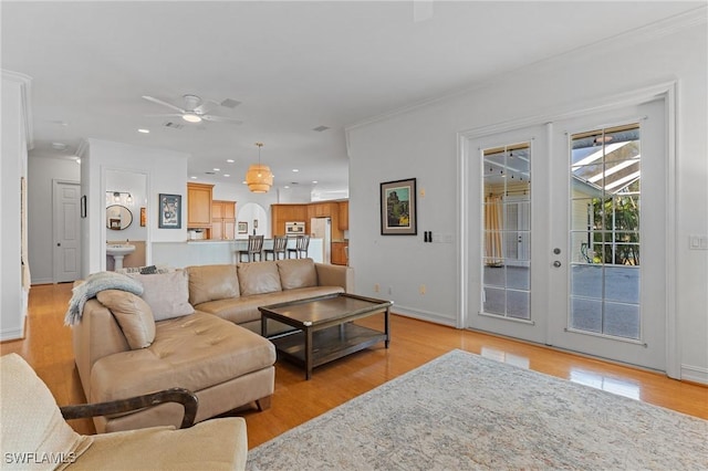
[[86, 301], [81, 322], [71, 327], [74, 359], [86, 397], [91, 397], [91, 369], [107, 355], [131, 349], [111, 310], [98, 300]]

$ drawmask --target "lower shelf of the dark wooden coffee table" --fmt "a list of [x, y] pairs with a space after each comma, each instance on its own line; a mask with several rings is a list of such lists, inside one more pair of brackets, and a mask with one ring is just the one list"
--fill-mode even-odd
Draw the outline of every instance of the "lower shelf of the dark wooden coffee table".
[[[271, 338], [271, 342], [285, 359], [306, 367], [304, 335], [303, 331], [298, 331], [282, 337]], [[384, 332], [351, 322], [315, 331], [312, 333], [312, 367], [362, 350], [379, 342], [386, 342]]]

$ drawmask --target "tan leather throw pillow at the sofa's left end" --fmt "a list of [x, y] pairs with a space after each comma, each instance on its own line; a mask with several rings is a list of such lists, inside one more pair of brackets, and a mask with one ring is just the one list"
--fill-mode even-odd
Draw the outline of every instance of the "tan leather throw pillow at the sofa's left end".
[[127, 291], [105, 290], [96, 294], [98, 302], [111, 310], [123, 335], [133, 349], [149, 347], [155, 341], [153, 310], [140, 297]]

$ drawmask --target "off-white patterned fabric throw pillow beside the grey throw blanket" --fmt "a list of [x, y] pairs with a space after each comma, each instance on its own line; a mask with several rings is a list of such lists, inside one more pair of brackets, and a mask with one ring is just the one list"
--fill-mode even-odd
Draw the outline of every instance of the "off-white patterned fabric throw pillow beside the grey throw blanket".
[[143, 285], [143, 299], [150, 305], [156, 322], [195, 312], [189, 304], [189, 275], [186, 271], [149, 275], [129, 273], [128, 276]]

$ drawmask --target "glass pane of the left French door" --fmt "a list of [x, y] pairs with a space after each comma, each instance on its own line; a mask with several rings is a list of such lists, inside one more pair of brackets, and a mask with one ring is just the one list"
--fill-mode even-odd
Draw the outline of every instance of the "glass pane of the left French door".
[[482, 312], [529, 320], [531, 147], [483, 150]]

